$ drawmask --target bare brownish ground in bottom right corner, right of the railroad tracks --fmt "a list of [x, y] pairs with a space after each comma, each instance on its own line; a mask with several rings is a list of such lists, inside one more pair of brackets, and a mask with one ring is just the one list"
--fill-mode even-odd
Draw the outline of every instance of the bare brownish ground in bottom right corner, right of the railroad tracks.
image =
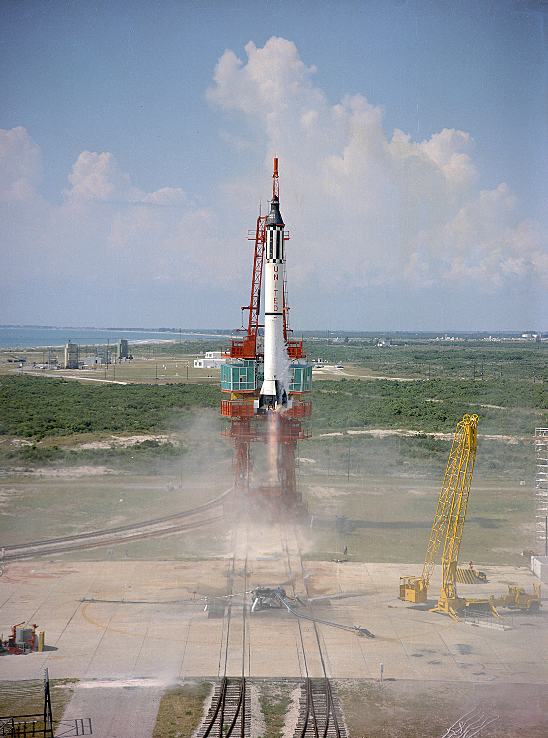
[[541, 738], [548, 731], [548, 686], [336, 680], [349, 738], [439, 738], [473, 708], [497, 720], [482, 738]]

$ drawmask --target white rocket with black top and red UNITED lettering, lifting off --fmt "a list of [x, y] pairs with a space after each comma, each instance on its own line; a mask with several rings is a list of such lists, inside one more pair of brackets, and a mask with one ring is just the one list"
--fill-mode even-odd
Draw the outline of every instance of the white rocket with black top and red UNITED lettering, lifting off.
[[[274, 183], [277, 183], [278, 160], [274, 159]], [[265, 373], [259, 393], [259, 410], [288, 407], [289, 359], [283, 335], [283, 229], [280, 200], [274, 186], [270, 213], [266, 218], [265, 253]], [[291, 405], [290, 405], [291, 407]]]

